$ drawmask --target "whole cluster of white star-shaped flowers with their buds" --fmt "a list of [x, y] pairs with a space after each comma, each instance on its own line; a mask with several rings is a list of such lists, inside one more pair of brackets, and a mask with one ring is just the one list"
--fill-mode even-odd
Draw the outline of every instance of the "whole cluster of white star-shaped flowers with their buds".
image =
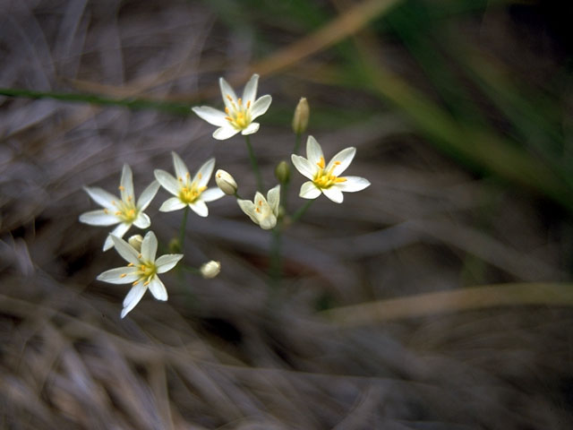
[[[187, 211], [191, 209], [200, 217], [207, 217], [208, 202], [213, 202], [224, 195], [236, 198], [239, 208], [256, 225], [264, 230], [275, 229], [280, 235], [283, 226], [282, 219], [286, 209], [281, 206], [281, 192], [286, 195], [290, 183], [290, 165], [286, 161], [278, 163], [275, 169], [279, 184], [270, 188], [266, 197], [262, 192], [262, 178], [256, 158], [252, 150], [249, 135], [259, 130], [260, 124], [254, 122], [269, 109], [272, 98], [264, 95], [257, 98], [259, 75], [253, 74], [246, 83], [243, 97], [237, 97], [235, 90], [225, 81], [219, 79], [219, 87], [225, 105], [224, 110], [213, 107], [192, 107], [192, 111], [202, 119], [216, 125], [218, 128], [213, 133], [217, 140], [229, 139], [237, 133], [245, 136], [252, 169], [257, 176], [258, 190], [252, 201], [239, 196], [238, 185], [235, 178], [225, 170], [218, 169], [215, 181], [218, 187], [209, 188], [210, 177], [215, 168], [215, 159], [205, 161], [197, 172], [192, 176], [187, 166], [179, 155], [172, 152], [175, 176], [162, 169], [155, 169], [155, 180], [151, 182], [141, 193], [139, 199], [135, 199], [133, 191], [133, 173], [128, 165], [124, 165], [119, 185], [120, 197], [98, 187], [85, 187], [86, 193], [102, 206], [103, 209], [89, 211], [81, 214], [80, 221], [94, 226], [117, 226], [109, 233], [104, 243], [104, 251], [115, 247], [128, 264], [123, 267], [104, 271], [98, 276], [98, 280], [112, 284], [131, 283], [132, 288], [124, 299], [124, 308], [121, 317], [124, 318], [148, 289], [151, 295], [158, 300], [167, 300], [167, 288], [158, 275], [170, 271], [181, 261], [183, 254], [178, 254], [183, 249], [184, 227], [187, 219]], [[300, 99], [295, 109], [293, 118], [293, 131], [296, 134], [294, 153], [290, 159], [292, 165], [308, 180], [301, 185], [299, 196], [303, 199], [316, 199], [324, 194], [332, 202], [341, 203], [344, 200], [343, 193], [355, 193], [370, 185], [370, 182], [360, 176], [342, 176], [346, 168], [355, 158], [356, 149], [349, 147], [340, 150], [329, 163], [326, 163], [321, 145], [312, 136], [306, 141], [306, 158], [296, 154], [301, 135], [306, 131], [309, 122], [310, 108], [308, 101]], [[150, 228], [150, 217], [144, 212], [150, 202], [158, 193], [159, 187], [163, 187], [169, 197], [159, 207], [161, 212], [178, 211], [184, 209], [183, 224], [180, 239], [173, 239], [170, 247], [177, 254], [165, 254], [156, 258], [158, 239], [152, 231], [148, 231], [144, 237], [135, 235], [126, 242], [123, 239], [125, 233], [132, 227]], [[282, 188], [281, 188], [282, 187]], [[293, 215], [297, 219], [308, 208], [308, 203]], [[203, 278], [209, 279], [218, 275], [220, 262], [206, 262], [195, 271]]]

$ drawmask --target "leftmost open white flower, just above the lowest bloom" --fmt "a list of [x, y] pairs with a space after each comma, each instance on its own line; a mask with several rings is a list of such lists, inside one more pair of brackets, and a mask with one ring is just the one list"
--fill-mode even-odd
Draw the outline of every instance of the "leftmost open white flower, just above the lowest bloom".
[[[122, 178], [119, 185], [121, 192], [121, 199], [115, 197], [111, 193], [102, 190], [98, 187], [84, 187], [86, 193], [94, 202], [103, 206], [104, 209], [98, 211], [89, 211], [80, 215], [80, 221], [92, 226], [111, 226], [119, 223], [119, 225], [112, 230], [110, 235], [123, 237], [124, 234], [132, 227], [132, 224], [138, 228], [148, 228], [151, 225], [150, 217], [143, 211], [147, 209], [150, 202], [158, 192], [159, 184], [153, 181], [140, 195], [140, 199], [135, 202], [133, 193], [133, 173], [132, 169], [124, 164], [122, 171]], [[107, 236], [104, 244], [104, 251], [107, 251], [114, 245], [110, 236]]]

